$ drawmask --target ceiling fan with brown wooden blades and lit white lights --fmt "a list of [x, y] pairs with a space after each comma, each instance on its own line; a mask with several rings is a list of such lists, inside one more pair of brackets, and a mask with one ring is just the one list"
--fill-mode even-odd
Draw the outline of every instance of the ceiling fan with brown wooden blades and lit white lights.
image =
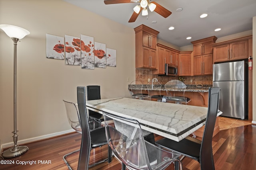
[[130, 3], [130, 2], [138, 2], [140, 4], [136, 5], [133, 10], [133, 14], [130, 18], [130, 20], [128, 22], [134, 22], [140, 12], [142, 11], [142, 16], [146, 16], [148, 15], [148, 9], [151, 12], [155, 11], [156, 13], [160, 14], [161, 16], [163, 16], [164, 18], [167, 18], [168, 16], [170, 16], [172, 14], [172, 12], [170, 12], [169, 10], [167, 10], [166, 8], [164, 8], [163, 6], [159, 5], [156, 2], [150, 2], [151, 0], [104, 0], [104, 3], [106, 5], [108, 4], [121, 4], [121, 3]]

